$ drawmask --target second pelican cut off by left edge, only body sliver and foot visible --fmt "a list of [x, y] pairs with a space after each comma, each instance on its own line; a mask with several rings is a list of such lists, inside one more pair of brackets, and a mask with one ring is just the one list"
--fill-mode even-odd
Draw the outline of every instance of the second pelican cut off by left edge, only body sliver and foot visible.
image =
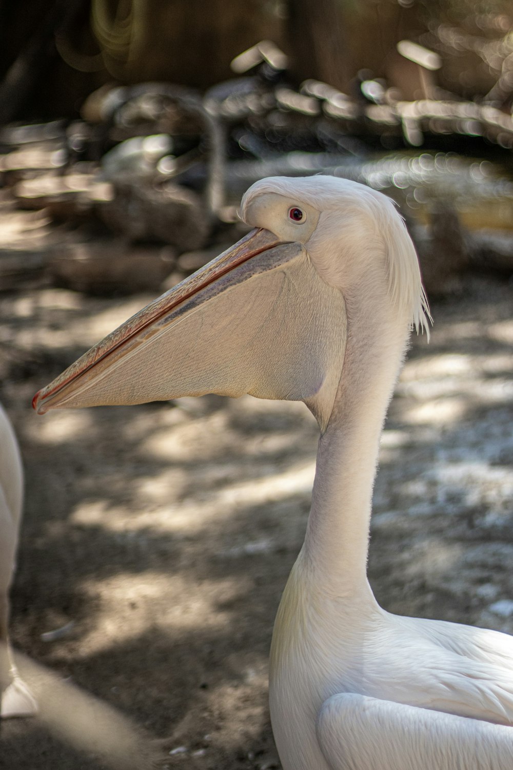
[[0, 406], [0, 717], [32, 716], [37, 705], [9, 650], [9, 588], [22, 517], [22, 460], [14, 430]]

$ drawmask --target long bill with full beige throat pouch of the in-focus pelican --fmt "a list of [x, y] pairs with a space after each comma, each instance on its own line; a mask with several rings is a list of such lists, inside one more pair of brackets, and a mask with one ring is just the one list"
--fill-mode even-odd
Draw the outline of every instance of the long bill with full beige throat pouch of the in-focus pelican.
[[92, 347], [33, 406], [249, 393], [303, 400], [322, 428], [344, 350], [341, 293], [301, 243], [255, 229]]

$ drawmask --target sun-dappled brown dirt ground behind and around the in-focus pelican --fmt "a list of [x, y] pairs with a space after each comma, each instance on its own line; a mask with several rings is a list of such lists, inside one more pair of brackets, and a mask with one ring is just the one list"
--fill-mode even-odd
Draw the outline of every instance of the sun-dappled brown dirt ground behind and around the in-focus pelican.
[[[26, 474], [12, 641], [43, 667], [21, 659], [42, 717], [2, 725], [8, 770], [93, 770], [120, 745], [119, 767], [142, 766], [126, 738], [138, 728], [162, 768], [279, 768], [268, 648], [308, 517], [308, 410], [30, 408], [150, 299], [45, 287], [0, 300], [0, 400]], [[389, 611], [512, 632], [513, 285], [468, 276], [432, 312], [382, 440], [371, 584]]]

